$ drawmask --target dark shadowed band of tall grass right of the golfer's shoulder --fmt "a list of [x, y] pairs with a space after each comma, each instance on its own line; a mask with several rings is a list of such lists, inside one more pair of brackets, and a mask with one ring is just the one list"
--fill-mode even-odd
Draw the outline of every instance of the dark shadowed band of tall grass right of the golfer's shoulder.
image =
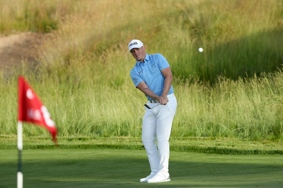
[[[282, 29], [262, 31], [217, 46], [199, 42], [192, 59], [180, 55], [178, 62], [172, 65], [172, 73], [182, 79], [195, 75], [210, 83], [217, 82], [219, 76], [237, 80], [260, 76], [263, 72], [274, 73], [282, 69], [283, 64], [282, 32]], [[202, 53], [197, 50], [200, 46], [204, 48]], [[191, 69], [186, 68], [188, 61], [194, 62]]]

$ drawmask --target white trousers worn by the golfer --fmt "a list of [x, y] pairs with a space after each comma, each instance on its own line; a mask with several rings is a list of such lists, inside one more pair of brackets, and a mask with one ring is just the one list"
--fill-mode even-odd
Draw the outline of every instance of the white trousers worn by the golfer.
[[[152, 109], [145, 107], [141, 135], [149, 159], [151, 174], [157, 173], [166, 177], [169, 176], [169, 137], [177, 109], [177, 100], [174, 93], [167, 97], [169, 100], [167, 105], [158, 105]], [[154, 105], [156, 104], [152, 103], [152, 106]]]

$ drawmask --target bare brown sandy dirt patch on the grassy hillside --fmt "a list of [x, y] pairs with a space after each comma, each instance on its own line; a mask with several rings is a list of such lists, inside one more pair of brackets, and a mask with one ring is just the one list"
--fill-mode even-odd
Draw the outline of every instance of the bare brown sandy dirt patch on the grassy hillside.
[[0, 69], [9, 74], [11, 67], [32, 63], [38, 57], [44, 34], [25, 32], [0, 37]]

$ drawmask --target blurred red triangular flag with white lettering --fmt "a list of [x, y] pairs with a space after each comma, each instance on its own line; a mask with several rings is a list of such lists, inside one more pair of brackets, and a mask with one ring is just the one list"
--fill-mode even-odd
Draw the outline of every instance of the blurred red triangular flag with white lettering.
[[19, 76], [18, 79], [18, 92], [18, 121], [35, 123], [46, 128], [51, 133], [53, 141], [57, 143], [57, 129], [54, 121], [23, 76]]

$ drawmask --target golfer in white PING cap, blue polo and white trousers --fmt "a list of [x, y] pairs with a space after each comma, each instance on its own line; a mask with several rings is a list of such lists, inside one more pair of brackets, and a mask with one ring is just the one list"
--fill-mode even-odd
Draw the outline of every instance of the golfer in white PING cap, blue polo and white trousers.
[[[151, 173], [140, 182], [156, 183], [170, 181], [168, 173], [169, 137], [177, 109], [172, 87], [172, 72], [167, 60], [160, 53], [148, 55], [144, 44], [134, 39], [129, 52], [137, 60], [130, 75], [136, 88], [141, 90], [151, 107], [145, 108], [141, 140], [149, 159]], [[160, 105], [156, 104], [162, 102]], [[157, 142], [157, 148], [156, 143]]]

